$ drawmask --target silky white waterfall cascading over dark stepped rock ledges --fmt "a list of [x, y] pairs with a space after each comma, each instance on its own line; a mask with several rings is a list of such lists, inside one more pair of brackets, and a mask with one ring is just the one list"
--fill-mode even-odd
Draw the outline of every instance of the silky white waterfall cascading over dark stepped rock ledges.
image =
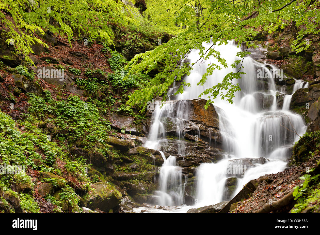
[[[203, 45], [206, 48], [211, 46], [207, 43], [203, 43]], [[236, 57], [236, 53], [240, 49], [232, 43], [216, 45], [215, 50], [220, 51], [221, 57], [226, 59], [228, 65], [234, 63], [236, 59], [241, 59]], [[188, 56], [191, 63], [198, 60], [198, 52], [198, 50], [191, 51]], [[207, 77], [203, 86], [197, 86], [209, 63], [219, 64], [214, 58], [210, 58], [210, 60], [194, 65], [191, 74], [185, 77], [185, 81], [189, 82], [191, 86], [185, 87], [185, 91], [179, 94], [176, 99], [196, 99], [204, 90], [221, 82], [227, 73], [238, 70], [221, 66], [221, 70], [215, 70], [212, 75]], [[219, 115], [223, 149], [226, 154], [225, 159], [218, 163], [202, 163], [197, 168], [196, 207], [212, 205], [225, 200], [226, 179], [235, 176], [226, 173], [226, 168], [235, 164], [244, 166], [242, 158], [251, 158], [252, 161], [255, 161], [254, 159], [264, 157], [267, 161], [264, 164], [255, 163], [248, 166], [244, 174], [236, 174], [238, 183], [232, 196], [236, 195], [248, 181], [265, 174], [282, 171], [286, 165], [286, 158], [291, 154], [290, 147], [298, 140], [298, 135], [301, 136], [306, 130], [301, 116], [289, 111], [292, 95], [284, 97], [282, 110], [277, 109], [276, 92], [283, 93], [284, 90], [280, 88], [277, 90], [275, 79], [270, 75], [271, 72], [268, 72], [269, 76], [265, 78], [257, 78], [258, 69], [269, 71], [268, 68], [248, 57], [244, 58], [242, 66], [244, 68], [241, 71], [246, 74], [242, 75], [242, 79], [233, 81], [233, 83], [238, 82], [241, 87], [241, 91], [235, 94], [234, 104], [219, 97], [214, 100], [214, 106]], [[276, 69], [274, 66], [271, 67]], [[294, 91], [303, 87], [303, 81], [298, 81], [294, 84]], [[308, 83], [304, 86], [308, 86]], [[206, 96], [201, 98], [206, 99]], [[267, 100], [269, 101], [267, 102]], [[183, 155], [184, 120], [188, 120], [186, 108], [186, 102], [183, 101], [179, 102], [175, 114], [169, 113], [168, 108], [166, 110], [164, 107], [157, 108], [153, 114], [153, 124], [145, 146], [159, 149], [165, 143], [162, 118], [175, 118], [177, 120], [179, 154]], [[156, 194], [156, 204], [180, 206], [183, 204], [183, 176], [181, 168], [175, 166], [175, 157], [170, 156], [164, 162], [160, 172], [160, 189]], [[172, 182], [174, 180], [176, 183]], [[176, 212], [185, 212], [188, 208], [194, 207], [184, 206], [184, 209], [176, 209]]]

